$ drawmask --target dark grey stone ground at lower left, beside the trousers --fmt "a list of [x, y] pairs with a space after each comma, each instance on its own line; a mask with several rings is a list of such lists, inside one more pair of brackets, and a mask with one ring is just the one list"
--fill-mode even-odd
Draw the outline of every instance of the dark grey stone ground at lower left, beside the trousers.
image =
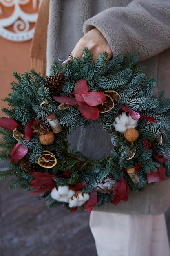
[[0, 256], [97, 256], [89, 213], [48, 209], [0, 180]]

